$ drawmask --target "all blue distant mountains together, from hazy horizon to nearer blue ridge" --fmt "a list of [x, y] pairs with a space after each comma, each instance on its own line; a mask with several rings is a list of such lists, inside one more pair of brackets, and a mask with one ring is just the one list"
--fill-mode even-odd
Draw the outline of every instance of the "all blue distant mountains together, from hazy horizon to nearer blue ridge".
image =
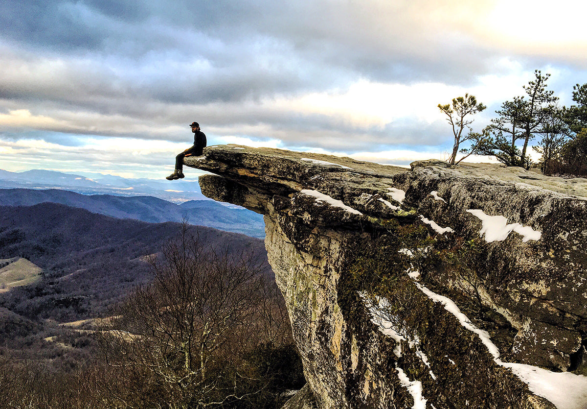
[[197, 180], [169, 182], [91, 172], [74, 175], [53, 170], [0, 169], [0, 206], [32, 206], [43, 202], [150, 223], [186, 219], [198, 226], [265, 237], [261, 215], [208, 199], [202, 195]]

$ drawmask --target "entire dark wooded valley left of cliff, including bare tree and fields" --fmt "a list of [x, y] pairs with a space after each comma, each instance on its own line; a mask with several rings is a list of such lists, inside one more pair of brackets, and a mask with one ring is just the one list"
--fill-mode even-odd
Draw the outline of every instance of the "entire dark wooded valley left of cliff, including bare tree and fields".
[[262, 240], [0, 206], [0, 407], [274, 408], [304, 383]]

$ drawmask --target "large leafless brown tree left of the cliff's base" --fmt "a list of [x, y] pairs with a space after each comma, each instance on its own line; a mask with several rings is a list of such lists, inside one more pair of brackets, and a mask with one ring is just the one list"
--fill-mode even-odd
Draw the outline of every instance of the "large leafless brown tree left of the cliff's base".
[[262, 277], [266, 261], [207, 248], [184, 223], [150, 263], [153, 283], [127, 297], [101, 331], [107, 361], [129, 377], [113, 398], [128, 405], [153, 395], [162, 407], [206, 408], [261, 390], [244, 354], [289, 330]]

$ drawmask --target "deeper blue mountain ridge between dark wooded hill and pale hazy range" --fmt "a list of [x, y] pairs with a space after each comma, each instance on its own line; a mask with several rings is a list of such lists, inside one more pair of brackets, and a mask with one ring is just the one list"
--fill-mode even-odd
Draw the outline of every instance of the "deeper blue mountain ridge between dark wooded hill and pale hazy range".
[[44, 202], [150, 223], [181, 222], [185, 219], [198, 226], [214, 227], [251, 237], [265, 237], [265, 224], [261, 214], [222, 206], [213, 200], [189, 200], [176, 204], [153, 196], [81, 195], [60, 189], [0, 189], [0, 206], [33, 206]]

